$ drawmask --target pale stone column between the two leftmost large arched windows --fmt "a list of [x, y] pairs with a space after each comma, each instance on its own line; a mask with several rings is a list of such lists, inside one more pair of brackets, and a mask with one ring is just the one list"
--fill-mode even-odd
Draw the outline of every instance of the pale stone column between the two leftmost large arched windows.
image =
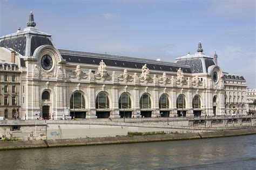
[[88, 111], [86, 111], [86, 118], [97, 118], [96, 116], [96, 108], [95, 108], [95, 86], [88, 86], [88, 94], [89, 94], [89, 103], [88, 103]]

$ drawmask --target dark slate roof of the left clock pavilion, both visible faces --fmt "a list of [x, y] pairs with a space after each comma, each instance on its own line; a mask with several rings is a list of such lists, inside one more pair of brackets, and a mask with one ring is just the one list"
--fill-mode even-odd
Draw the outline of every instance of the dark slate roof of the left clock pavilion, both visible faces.
[[[35, 49], [41, 45], [52, 45], [52, 42], [46, 36], [32, 36], [30, 55], [33, 55]], [[23, 35], [18, 37], [15, 36], [3, 38], [0, 42], [0, 47], [12, 48], [16, 52], [24, 56], [26, 50], [26, 37], [25, 35]]]

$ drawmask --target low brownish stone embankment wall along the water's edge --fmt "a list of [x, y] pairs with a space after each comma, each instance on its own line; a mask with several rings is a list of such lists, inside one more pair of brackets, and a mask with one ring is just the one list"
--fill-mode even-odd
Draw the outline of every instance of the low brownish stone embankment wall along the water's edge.
[[23, 148], [47, 148], [61, 146], [85, 146], [85, 145], [106, 145], [106, 144], [124, 144], [140, 143], [151, 141], [169, 141], [201, 139], [214, 137], [230, 137], [246, 134], [256, 134], [256, 129], [225, 130], [214, 132], [198, 133], [172, 133], [172, 134], [154, 134], [148, 136], [133, 137], [105, 137], [105, 138], [77, 138], [77, 139], [47, 139], [47, 140], [26, 140], [26, 141], [5, 141], [0, 142], [0, 150], [15, 150]]

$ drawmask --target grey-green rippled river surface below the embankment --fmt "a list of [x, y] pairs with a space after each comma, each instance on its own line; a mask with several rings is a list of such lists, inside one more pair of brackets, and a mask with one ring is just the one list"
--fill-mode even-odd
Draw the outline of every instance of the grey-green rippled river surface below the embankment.
[[0, 151], [0, 169], [256, 169], [256, 135]]

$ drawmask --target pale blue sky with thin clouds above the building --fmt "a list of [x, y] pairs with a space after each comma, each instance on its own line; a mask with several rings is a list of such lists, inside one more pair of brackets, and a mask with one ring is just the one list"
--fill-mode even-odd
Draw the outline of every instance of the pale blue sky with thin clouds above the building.
[[256, 88], [256, 1], [11, 1], [0, 0], [0, 36], [28, 22], [52, 34], [57, 48], [174, 62], [217, 49], [224, 72]]

